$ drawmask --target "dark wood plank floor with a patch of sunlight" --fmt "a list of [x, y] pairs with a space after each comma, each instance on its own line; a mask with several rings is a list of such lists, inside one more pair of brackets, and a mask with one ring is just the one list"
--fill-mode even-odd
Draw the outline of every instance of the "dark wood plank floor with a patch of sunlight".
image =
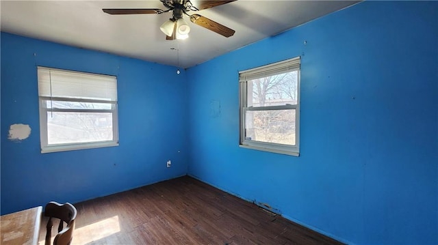
[[342, 244], [187, 176], [75, 206], [72, 244]]

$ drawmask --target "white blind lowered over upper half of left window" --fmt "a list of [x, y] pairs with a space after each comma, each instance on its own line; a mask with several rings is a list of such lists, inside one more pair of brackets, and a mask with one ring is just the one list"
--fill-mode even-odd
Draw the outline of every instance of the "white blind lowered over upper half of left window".
[[38, 95], [47, 98], [75, 98], [117, 101], [117, 78], [86, 72], [38, 67]]

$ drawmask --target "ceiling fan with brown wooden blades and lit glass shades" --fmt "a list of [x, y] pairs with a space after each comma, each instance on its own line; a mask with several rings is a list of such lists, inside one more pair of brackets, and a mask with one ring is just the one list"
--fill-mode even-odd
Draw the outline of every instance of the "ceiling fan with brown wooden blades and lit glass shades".
[[188, 38], [190, 32], [190, 26], [185, 23], [183, 14], [190, 17], [190, 21], [205, 27], [211, 31], [214, 31], [226, 38], [234, 35], [235, 31], [224, 25], [221, 25], [209, 18], [201, 16], [199, 14], [188, 14], [190, 11], [205, 10], [207, 8], [213, 8], [225, 3], [231, 3], [231, 1], [196, 1], [196, 6], [192, 4], [190, 0], [159, 0], [163, 3], [166, 10], [160, 10], [157, 8], [127, 8], [127, 9], [102, 9], [107, 14], [163, 14], [172, 11], [172, 18], [167, 20], [161, 27], [159, 27], [164, 34], [166, 34], [166, 40], [185, 39]]

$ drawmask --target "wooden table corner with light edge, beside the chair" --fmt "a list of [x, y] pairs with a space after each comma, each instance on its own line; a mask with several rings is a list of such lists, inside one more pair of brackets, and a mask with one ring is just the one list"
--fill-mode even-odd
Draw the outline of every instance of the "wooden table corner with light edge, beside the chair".
[[1, 245], [38, 244], [42, 207], [34, 207], [0, 217]]

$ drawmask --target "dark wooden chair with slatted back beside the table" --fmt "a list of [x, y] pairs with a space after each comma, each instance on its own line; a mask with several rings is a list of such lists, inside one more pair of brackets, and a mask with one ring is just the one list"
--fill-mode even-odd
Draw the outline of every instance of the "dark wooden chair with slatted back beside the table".
[[[70, 203], [60, 204], [55, 201], [47, 203], [44, 216], [49, 217], [47, 222], [47, 233], [45, 245], [50, 245], [53, 222], [52, 218], [59, 218], [60, 225], [57, 227], [57, 235], [53, 240], [53, 245], [69, 245], [73, 238], [73, 230], [75, 230], [76, 208]], [[64, 222], [67, 226], [64, 227]]]

